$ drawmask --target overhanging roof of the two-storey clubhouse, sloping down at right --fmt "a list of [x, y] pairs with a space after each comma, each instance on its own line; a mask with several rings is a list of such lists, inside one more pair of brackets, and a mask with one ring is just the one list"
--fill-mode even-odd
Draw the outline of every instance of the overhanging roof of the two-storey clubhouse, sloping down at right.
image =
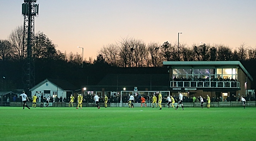
[[248, 75], [248, 77], [253, 81], [253, 77], [249, 74], [240, 61], [163, 61], [163, 65], [239, 65], [246, 75]]

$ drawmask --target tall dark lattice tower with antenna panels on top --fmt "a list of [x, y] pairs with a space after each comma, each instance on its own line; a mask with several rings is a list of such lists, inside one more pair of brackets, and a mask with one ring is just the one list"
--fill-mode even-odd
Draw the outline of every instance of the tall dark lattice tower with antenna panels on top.
[[31, 53], [35, 45], [34, 17], [38, 15], [39, 8], [39, 4], [36, 2], [37, 0], [24, 0], [22, 4], [22, 15], [24, 16], [23, 49], [26, 50], [23, 83], [27, 95], [30, 95], [29, 89], [35, 85], [35, 65]]

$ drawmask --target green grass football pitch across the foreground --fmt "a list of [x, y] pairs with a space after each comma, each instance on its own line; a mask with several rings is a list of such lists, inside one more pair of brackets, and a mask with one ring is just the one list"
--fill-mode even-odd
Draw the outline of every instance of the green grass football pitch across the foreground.
[[0, 107], [0, 140], [255, 140], [256, 107]]

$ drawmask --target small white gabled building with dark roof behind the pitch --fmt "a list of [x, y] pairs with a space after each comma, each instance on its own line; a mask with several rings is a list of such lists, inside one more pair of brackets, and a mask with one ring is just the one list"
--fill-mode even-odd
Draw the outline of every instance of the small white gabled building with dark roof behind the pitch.
[[40, 97], [41, 93], [43, 93], [46, 98], [51, 95], [54, 99], [56, 96], [58, 98], [68, 98], [76, 89], [73, 84], [65, 80], [45, 79], [31, 88], [30, 91], [32, 96], [36, 94], [36, 96]]

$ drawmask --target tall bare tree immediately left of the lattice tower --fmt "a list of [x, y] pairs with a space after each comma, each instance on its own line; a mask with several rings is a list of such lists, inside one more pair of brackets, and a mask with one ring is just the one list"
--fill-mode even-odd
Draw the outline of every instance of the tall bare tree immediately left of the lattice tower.
[[23, 26], [18, 26], [12, 30], [8, 40], [14, 48], [14, 57], [24, 60], [26, 58], [26, 47], [23, 46]]

